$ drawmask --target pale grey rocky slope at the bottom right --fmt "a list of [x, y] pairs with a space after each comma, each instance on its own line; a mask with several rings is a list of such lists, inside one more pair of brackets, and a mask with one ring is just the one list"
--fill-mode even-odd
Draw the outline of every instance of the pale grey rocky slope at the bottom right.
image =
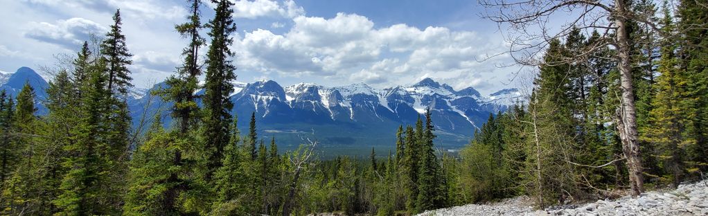
[[534, 210], [527, 197], [487, 205], [463, 205], [421, 215], [708, 215], [708, 181], [683, 184], [676, 190], [651, 191], [637, 198], [598, 200], [583, 205]]

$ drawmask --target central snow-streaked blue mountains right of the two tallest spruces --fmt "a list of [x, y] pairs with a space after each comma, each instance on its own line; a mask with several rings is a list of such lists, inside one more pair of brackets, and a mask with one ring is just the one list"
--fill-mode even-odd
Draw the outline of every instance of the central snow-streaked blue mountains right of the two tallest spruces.
[[232, 101], [236, 115], [255, 112], [256, 119], [269, 127], [266, 131], [270, 135], [290, 136], [292, 131], [300, 131], [329, 139], [333, 135], [327, 132], [334, 131], [353, 144], [390, 142], [398, 125], [414, 124], [418, 115], [430, 108], [438, 139], [452, 147], [469, 142], [490, 113], [505, 110], [520, 97], [515, 89], [490, 96], [481, 96], [472, 87], [456, 91], [433, 79], [387, 89], [367, 84], [282, 87], [275, 81], [257, 81], [245, 84]]

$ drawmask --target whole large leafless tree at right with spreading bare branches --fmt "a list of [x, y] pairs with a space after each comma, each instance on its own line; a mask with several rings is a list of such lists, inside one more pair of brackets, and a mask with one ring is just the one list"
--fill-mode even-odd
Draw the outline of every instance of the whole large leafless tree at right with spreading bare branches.
[[[630, 64], [631, 41], [627, 30], [629, 22], [634, 21], [659, 32], [651, 16], [630, 10], [626, 0], [479, 0], [479, 3], [487, 8], [482, 16], [508, 32], [505, 37], [510, 44], [507, 53], [518, 64], [572, 64], [603, 47], [616, 50], [614, 57], [617, 59], [621, 96], [615, 121], [627, 159], [632, 194], [644, 192]], [[556, 23], [561, 20], [560, 16], [567, 18], [564, 23]], [[598, 40], [580, 53], [574, 53], [573, 57], [543, 62], [542, 55], [549, 42], [564, 38], [573, 28], [599, 30], [605, 40]]]

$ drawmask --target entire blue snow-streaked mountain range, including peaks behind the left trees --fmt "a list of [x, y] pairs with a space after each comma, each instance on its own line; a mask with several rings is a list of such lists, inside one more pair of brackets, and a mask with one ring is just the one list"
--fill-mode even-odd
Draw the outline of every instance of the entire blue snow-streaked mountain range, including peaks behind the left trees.
[[[0, 74], [0, 89], [13, 96], [25, 81], [38, 95], [39, 114], [46, 113], [41, 101], [46, 98], [47, 81], [32, 69], [21, 67], [15, 73]], [[321, 148], [332, 154], [364, 153], [376, 147], [394, 146], [399, 125], [414, 125], [418, 115], [430, 108], [438, 147], [457, 149], [467, 144], [474, 130], [497, 113], [525, 99], [517, 89], [503, 89], [487, 96], [472, 87], [455, 90], [426, 78], [410, 86], [375, 89], [367, 84], [327, 87], [300, 83], [281, 86], [275, 81], [234, 83], [230, 97], [232, 113], [239, 116], [241, 131], [248, 128], [251, 113], [256, 114], [260, 137], [275, 137], [284, 149], [297, 147], [306, 137], [321, 141]], [[160, 83], [152, 89], [164, 88]], [[149, 95], [152, 89], [131, 89], [128, 105], [134, 127], [145, 126], [144, 116], [166, 115], [171, 103]], [[198, 94], [202, 94], [199, 91]], [[141, 124], [141, 122], [143, 124]], [[363, 152], [362, 152], [363, 151]]]

